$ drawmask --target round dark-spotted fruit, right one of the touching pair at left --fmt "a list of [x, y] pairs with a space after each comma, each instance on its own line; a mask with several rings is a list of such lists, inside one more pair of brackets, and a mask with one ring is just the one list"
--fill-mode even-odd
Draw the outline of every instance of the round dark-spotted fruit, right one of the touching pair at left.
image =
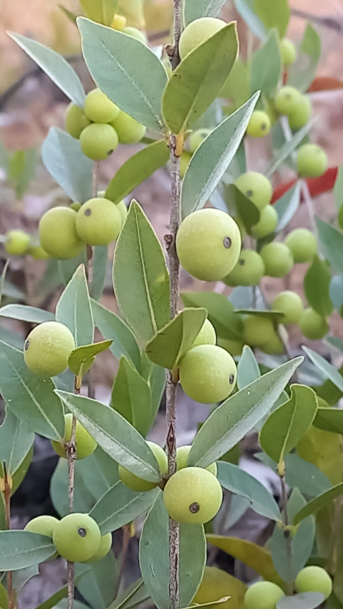
[[118, 207], [108, 199], [90, 199], [76, 216], [76, 231], [88, 245], [108, 245], [118, 237], [122, 227]]

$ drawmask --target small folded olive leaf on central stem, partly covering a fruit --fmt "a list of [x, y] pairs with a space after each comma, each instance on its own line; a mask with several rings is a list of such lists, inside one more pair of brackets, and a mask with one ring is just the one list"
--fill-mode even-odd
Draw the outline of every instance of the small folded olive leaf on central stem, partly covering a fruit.
[[191, 348], [207, 317], [205, 309], [184, 309], [146, 346], [149, 359], [172, 370]]

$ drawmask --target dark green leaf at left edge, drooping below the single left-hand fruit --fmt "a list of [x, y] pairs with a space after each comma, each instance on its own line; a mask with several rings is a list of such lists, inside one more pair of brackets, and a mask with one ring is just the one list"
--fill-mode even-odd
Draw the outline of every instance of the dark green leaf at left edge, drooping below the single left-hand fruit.
[[34, 375], [22, 351], [0, 341], [0, 392], [13, 414], [32, 431], [52, 440], [63, 437], [65, 420], [51, 379]]

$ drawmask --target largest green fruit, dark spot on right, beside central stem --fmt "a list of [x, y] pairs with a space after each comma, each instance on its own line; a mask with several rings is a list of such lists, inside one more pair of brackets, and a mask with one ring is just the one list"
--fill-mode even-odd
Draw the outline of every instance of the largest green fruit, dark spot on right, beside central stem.
[[176, 250], [183, 268], [197, 279], [220, 281], [238, 261], [241, 233], [220, 209], [199, 209], [183, 220]]

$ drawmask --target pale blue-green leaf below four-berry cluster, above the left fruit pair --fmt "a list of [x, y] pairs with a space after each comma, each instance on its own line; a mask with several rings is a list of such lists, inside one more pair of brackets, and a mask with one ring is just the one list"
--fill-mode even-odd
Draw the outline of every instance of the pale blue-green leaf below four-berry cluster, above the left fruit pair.
[[83, 154], [79, 139], [51, 127], [41, 147], [41, 158], [49, 174], [74, 202], [91, 199], [93, 161]]

